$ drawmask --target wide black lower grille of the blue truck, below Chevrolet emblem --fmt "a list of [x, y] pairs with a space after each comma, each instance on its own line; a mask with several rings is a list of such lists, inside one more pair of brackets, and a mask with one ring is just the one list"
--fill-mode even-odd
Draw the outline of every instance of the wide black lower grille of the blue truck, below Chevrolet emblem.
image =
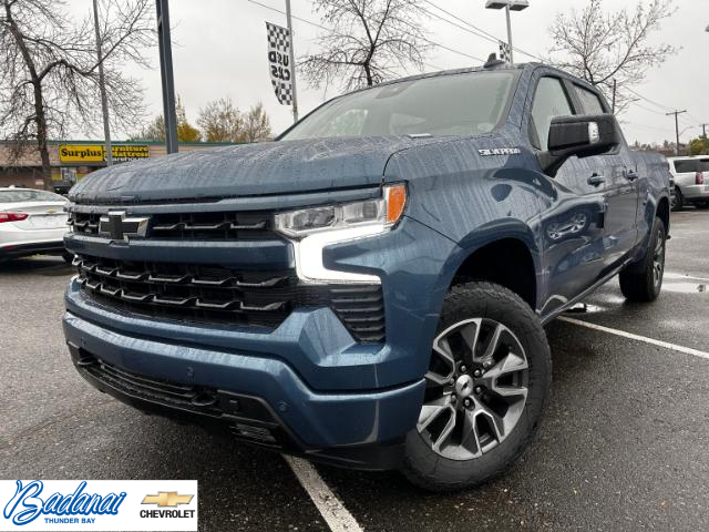
[[386, 338], [379, 285], [302, 285], [292, 270], [244, 272], [86, 255], [78, 255], [74, 265], [84, 294], [119, 310], [274, 329], [296, 308], [330, 307], [358, 341]]

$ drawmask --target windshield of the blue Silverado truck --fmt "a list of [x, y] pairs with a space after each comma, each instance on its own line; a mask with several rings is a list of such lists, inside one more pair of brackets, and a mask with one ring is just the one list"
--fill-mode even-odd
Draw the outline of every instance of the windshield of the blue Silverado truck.
[[490, 133], [505, 116], [515, 79], [515, 71], [469, 72], [356, 92], [316, 110], [281, 140]]

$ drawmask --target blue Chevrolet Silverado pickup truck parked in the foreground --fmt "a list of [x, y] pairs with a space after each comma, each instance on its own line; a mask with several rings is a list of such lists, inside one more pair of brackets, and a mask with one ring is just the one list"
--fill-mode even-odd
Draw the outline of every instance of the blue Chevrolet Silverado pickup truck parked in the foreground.
[[91, 385], [431, 490], [530, 442], [545, 324], [618, 274], [627, 299], [658, 297], [670, 211], [666, 161], [628, 149], [594, 86], [494, 60], [70, 197], [63, 327]]

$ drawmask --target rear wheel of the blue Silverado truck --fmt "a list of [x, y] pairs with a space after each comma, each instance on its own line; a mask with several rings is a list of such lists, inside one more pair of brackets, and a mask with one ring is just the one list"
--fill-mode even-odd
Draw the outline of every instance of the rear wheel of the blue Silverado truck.
[[665, 275], [666, 238], [665, 223], [656, 217], [645, 257], [620, 272], [620, 291], [629, 301], [650, 303], [660, 295]]

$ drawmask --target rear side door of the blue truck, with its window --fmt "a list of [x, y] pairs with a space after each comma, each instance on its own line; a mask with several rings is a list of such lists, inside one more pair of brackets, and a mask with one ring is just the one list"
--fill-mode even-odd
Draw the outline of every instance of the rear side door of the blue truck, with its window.
[[[573, 89], [582, 114], [610, 114], [607, 103], [594, 89], [577, 83], [573, 83]], [[608, 273], [623, 264], [638, 242], [639, 185], [645, 168], [636, 167], [636, 160], [625, 141], [615, 151], [586, 157], [583, 162], [588, 176], [604, 180], [604, 265]]]

